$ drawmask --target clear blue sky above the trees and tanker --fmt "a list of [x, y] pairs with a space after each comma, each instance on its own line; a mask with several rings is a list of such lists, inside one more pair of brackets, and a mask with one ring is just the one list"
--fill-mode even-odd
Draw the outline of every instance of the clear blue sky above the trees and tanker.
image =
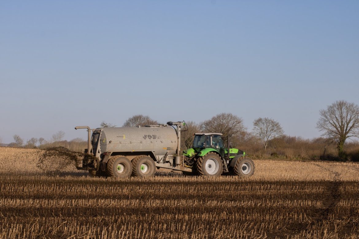
[[1, 1], [0, 138], [132, 115], [273, 118], [314, 138], [359, 104], [359, 1]]

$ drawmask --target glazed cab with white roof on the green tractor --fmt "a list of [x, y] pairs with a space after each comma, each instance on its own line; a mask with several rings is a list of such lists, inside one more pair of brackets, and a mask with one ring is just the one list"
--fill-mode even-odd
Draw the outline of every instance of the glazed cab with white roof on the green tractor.
[[199, 151], [205, 148], [214, 148], [223, 157], [225, 149], [222, 135], [220, 133], [196, 133], [193, 148]]

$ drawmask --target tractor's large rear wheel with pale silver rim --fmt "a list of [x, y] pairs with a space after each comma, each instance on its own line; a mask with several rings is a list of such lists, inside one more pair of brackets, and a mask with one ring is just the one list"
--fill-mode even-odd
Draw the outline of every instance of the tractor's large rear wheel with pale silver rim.
[[223, 172], [222, 159], [216, 153], [208, 153], [198, 158], [196, 168], [201, 176], [218, 177]]

